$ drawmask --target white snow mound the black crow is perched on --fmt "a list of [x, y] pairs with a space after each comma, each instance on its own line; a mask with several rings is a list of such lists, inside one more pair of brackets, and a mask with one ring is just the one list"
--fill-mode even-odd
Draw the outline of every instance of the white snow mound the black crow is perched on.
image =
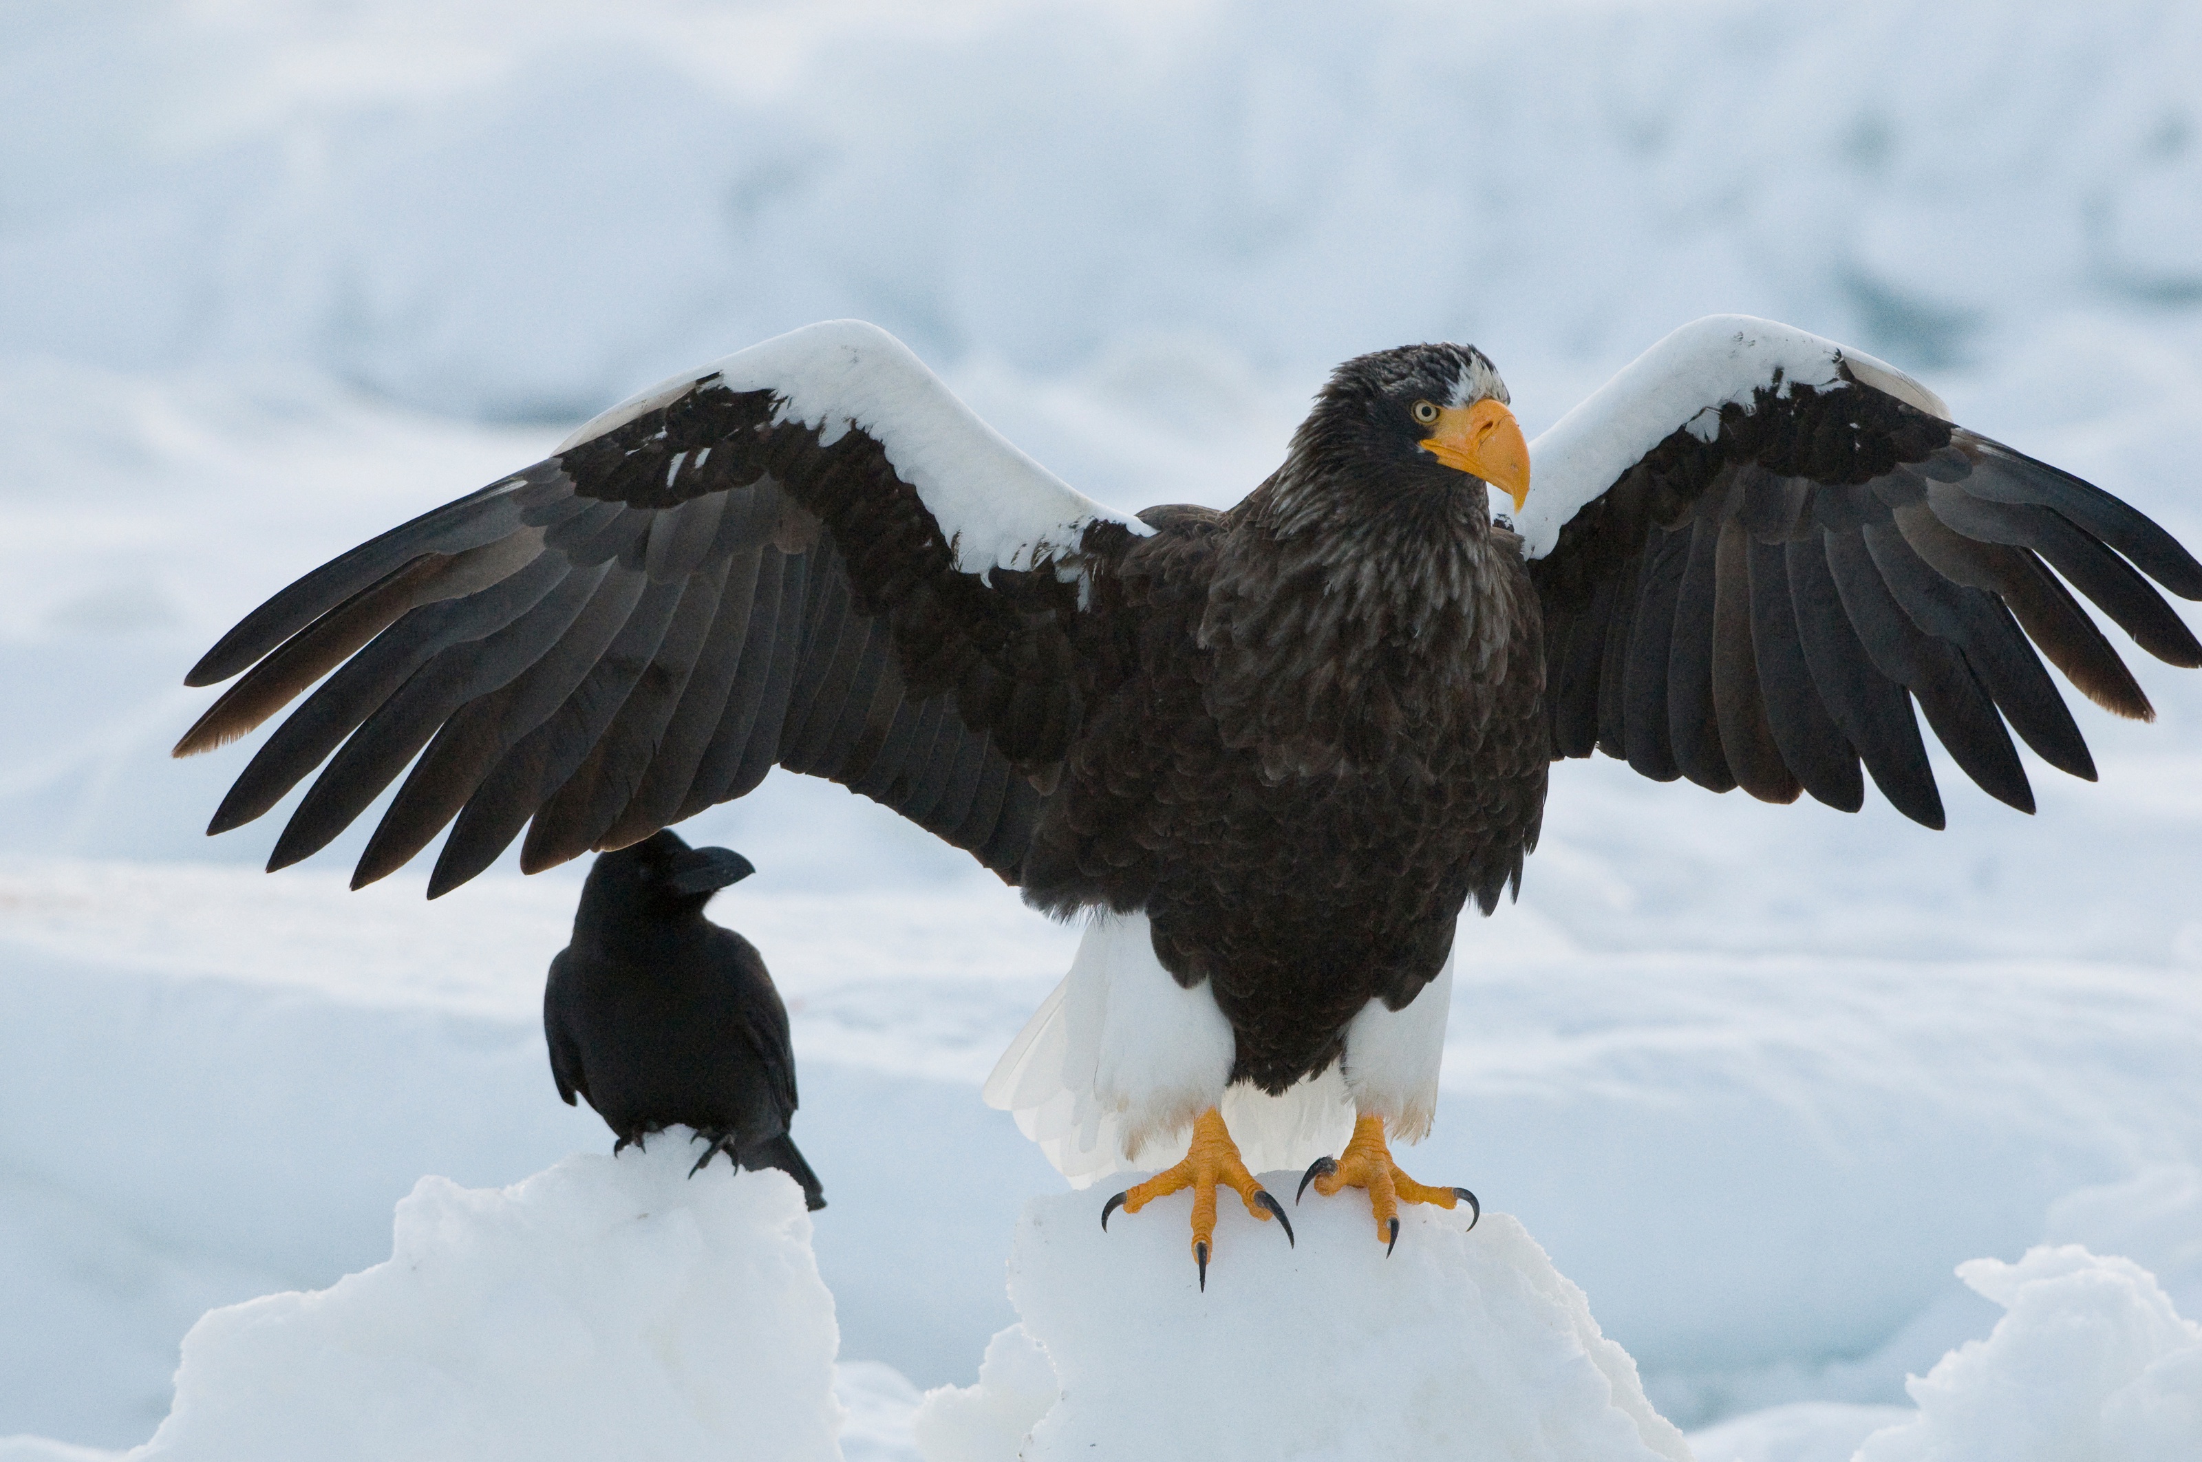
[[423, 1178], [388, 1264], [209, 1310], [132, 1458], [837, 1460], [839, 1343], [802, 1191], [694, 1149]]

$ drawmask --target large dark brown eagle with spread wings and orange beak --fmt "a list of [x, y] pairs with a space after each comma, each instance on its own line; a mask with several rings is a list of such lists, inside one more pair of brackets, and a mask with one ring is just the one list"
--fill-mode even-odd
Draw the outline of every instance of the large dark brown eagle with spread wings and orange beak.
[[403, 775], [352, 885], [449, 828], [432, 898], [522, 830], [537, 872], [773, 766], [894, 808], [1086, 918], [986, 1096], [1075, 1182], [1165, 1167], [1103, 1224], [1193, 1189], [1204, 1284], [1218, 1189], [1284, 1220], [1253, 1174], [1310, 1152], [1301, 1193], [1363, 1189], [1387, 1246], [1403, 1202], [1475, 1209], [1392, 1143], [1429, 1130], [1458, 916], [1519, 890], [1552, 762], [1852, 812], [1869, 777], [1940, 828], [1925, 716], [2032, 810], [2013, 731], [2094, 777], [2043, 656], [2151, 718], [2081, 599], [2202, 665], [2151, 581], [2202, 597], [2136, 509], [1766, 319], [1682, 326], [1535, 443], [1484, 352], [1363, 354], [1238, 506], [1138, 515], [830, 321], [297, 579], [192, 669], [242, 678], [176, 755], [313, 687], [209, 832], [319, 766], [277, 870]]

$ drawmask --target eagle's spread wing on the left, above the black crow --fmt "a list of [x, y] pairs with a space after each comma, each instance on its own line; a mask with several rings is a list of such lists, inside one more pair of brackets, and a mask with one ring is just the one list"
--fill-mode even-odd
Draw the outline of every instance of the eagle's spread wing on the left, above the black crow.
[[429, 896], [522, 826], [528, 872], [621, 848], [773, 764], [1015, 881], [1083, 713], [1075, 621], [1134, 533], [1149, 528], [1053, 478], [885, 330], [808, 326], [269, 599], [192, 669], [244, 676], [176, 755], [328, 676], [209, 832], [328, 762], [269, 868], [295, 863], [412, 764], [355, 887], [447, 823]]

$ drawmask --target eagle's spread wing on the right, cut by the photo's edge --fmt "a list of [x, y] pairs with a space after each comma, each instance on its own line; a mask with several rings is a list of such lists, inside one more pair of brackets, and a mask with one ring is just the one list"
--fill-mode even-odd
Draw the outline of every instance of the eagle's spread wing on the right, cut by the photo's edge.
[[2154, 711], [2074, 590], [2149, 654], [2202, 665], [2149, 583], [2202, 599], [2202, 566], [2125, 502], [1947, 416], [1867, 354], [1715, 315], [1539, 436], [1515, 526], [1555, 757], [1596, 746], [1660, 782], [1843, 810], [1863, 762], [1940, 828], [1916, 702], [2015, 808], [2032, 790], [2010, 731], [2092, 779], [2041, 656], [2107, 711]]

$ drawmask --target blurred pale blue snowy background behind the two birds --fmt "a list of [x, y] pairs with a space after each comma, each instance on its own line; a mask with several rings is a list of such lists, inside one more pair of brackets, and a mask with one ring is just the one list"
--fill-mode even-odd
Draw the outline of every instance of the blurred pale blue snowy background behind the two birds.
[[[839, 315], [1123, 509], [1235, 500], [1359, 350], [1475, 341], [1535, 434], [1770, 315], [2202, 544], [2195, 75], [2171, 0], [0, 0], [0, 1436], [141, 1442], [205, 1308], [608, 1145], [537, 1024], [577, 870], [427, 905], [200, 837], [247, 749], [165, 757], [181, 676], [297, 572]], [[1953, 1266], [2037, 1242], [2202, 1314], [2202, 680], [2132, 658], [2158, 722], [2076, 707], [2101, 784], [2028, 757], [2030, 819], [1947, 762], [1944, 834], [1557, 768], [1407, 1163], [1682, 1427], [1905, 1405], [1999, 1314]], [[1072, 934], [826, 784], [687, 830], [760, 868], [713, 912], [907, 1411], [1061, 1187], [978, 1085]]]

